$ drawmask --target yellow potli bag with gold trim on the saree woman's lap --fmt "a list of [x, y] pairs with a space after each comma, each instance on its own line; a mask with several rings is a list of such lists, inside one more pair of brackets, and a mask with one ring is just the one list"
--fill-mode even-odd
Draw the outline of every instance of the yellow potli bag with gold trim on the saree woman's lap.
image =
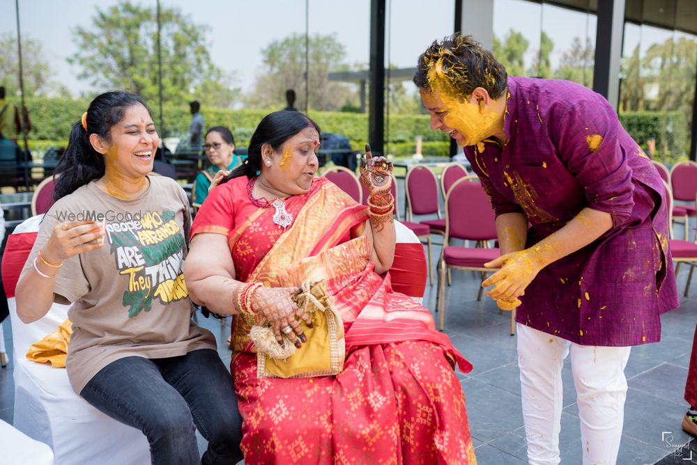
[[344, 369], [344, 323], [327, 292], [325, 281], [303, 283], [293, 302], [312, 318], [312, 328], [300, 321], [307, 342], [296, 349], [285, 335], [278, 345], [270, 326], [252, 326], [259, 378], [311, 378], [338, 375]]

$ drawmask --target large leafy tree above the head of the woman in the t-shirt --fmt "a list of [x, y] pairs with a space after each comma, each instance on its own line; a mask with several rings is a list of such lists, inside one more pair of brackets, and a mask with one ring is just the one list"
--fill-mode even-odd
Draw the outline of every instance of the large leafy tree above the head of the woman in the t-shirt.
[[[160, 10], [162, 44], [162, 97], [183, 104], [205, 95], [197, 90], [224, 90], [217, 82], [221, 71], [213, 65], [204, 36], [206, 28], [193, 24], [177, 8]], [[102, 10], [89, 28], [79, 26], [74, 40], [79, 52], [70, 63], [82, 66], [79, 79], [95, 88], [129, 90], [146, 102], [158, 100], [157, 13], [155, 8], [130, 1]], [[231, 90], [227, 88], [227, 90]], [[234, 93], [234, 90], [232, 90]]]

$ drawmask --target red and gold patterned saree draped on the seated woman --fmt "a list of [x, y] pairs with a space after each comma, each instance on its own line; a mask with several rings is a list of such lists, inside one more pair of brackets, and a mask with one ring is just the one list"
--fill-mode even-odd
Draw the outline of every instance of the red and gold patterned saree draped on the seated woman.
[[451, 364], [471, 365], [429, 310], [374, 273], [367, 238], [351, 239], [365, 207], [321, 179], [286, 210], [294, 222], [285, 232], [269, 209], [231, 233], [238, 278], [268, 287], [325, 280], [344, 321], [346, 363], [335, 377], [258, 379], [248, 333], [261, 316], [236, 315], [231, 372], [245, 463], [475, 464]]

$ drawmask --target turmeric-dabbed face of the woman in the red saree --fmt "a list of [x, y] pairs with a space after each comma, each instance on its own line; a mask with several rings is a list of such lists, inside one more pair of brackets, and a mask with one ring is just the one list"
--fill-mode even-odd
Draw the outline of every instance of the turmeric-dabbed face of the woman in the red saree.
[[263, 145], [261, 177], [286, 196], [305, 194], [319, 168], [318, 151], [319, 133], [314, 127], [302, 129], [282, 143], [278, 150]]

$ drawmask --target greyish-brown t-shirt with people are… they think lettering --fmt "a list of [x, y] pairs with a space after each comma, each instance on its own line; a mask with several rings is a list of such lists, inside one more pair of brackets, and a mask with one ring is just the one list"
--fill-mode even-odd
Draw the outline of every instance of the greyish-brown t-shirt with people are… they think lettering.
[[169, 178], [148, 176], [139, 196], [121, 200], [94, 182], [58, 200], [41, 223], [22, 274], [66, 221], [105, 223], [100, 249], [66, 260], [55, 300], [72, 303], [66, 368], [80, 393], [109, 363], [127, 356], [164, 358], [215, 349], [215, 338], [191, 319], [183, 275], [191, 217], [186, 195]]

